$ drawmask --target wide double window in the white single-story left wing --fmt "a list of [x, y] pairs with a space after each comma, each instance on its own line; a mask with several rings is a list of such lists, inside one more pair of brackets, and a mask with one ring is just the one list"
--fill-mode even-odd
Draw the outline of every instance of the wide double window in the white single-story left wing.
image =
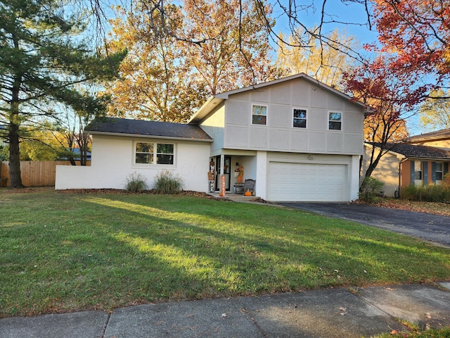
[[174, 144], [136, 142], [134, 163], [174, 164]]

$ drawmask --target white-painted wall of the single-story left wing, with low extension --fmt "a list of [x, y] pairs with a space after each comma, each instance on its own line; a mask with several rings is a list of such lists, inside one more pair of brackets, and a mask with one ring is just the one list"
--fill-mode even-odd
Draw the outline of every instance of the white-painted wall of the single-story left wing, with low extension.
[[[174, 165], [135, 165], [134, 141], [174, 143]], [[184, 142], [138, 137], [94, 135], [90, 167], [57, 166], [55, 189], [124, 189], [127, 176], [140, 173], [153, 188], [155, 175], [172, 171], [184, 180], [184, 189], [207, 192], [210, 143]]]

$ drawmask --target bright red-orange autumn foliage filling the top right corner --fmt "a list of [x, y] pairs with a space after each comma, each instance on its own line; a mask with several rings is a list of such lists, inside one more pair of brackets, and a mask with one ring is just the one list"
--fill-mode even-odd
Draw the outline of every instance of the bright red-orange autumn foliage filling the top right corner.
[[[413, 75], [428, 89], [448, 86], [450, 75], [450, 2], [372, 0], [380, 47], [392, 56], [392, 73]], [[428, 76], [427, 76], [428, 75]], [[423, 92], [421, 94], [428, 94]]]

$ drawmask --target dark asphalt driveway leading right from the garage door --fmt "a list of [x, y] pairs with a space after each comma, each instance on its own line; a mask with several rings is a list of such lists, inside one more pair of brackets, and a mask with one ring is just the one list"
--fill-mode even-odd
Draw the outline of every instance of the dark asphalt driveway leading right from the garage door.
[[329, 217], [353, 220], [450, 248], [450, 217], [377, 206], [338, 203], [279, 203]]

